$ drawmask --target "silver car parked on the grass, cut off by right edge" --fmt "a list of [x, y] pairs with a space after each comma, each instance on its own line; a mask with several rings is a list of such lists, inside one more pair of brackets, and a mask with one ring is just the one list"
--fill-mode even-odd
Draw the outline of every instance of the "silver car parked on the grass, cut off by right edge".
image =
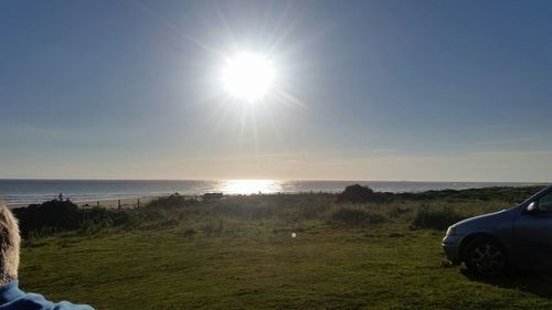
[[509, 267], [552, 268], [552, 185], [508, 210], [448, 227], [443, 250], [454, 264], [496, 276]]

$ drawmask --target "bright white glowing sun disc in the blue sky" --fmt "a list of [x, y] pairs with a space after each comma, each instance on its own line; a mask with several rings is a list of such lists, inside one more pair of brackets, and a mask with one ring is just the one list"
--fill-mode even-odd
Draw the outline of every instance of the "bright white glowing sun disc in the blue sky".
[[247, 103], [264, 98], [273, 88], [276, 74], [270, 60], [250, 53], [237, 53], [224, 63], [222, 83], [229, 94]]

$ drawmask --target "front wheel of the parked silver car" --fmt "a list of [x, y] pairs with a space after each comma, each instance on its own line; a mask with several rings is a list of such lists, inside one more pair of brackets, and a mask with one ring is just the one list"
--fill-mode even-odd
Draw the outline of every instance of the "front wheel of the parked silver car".
[[470, 271], [485, 277], [502, 274], [508, 263], [503, 246], [489, 237], [469, 242], [464, 260]]

